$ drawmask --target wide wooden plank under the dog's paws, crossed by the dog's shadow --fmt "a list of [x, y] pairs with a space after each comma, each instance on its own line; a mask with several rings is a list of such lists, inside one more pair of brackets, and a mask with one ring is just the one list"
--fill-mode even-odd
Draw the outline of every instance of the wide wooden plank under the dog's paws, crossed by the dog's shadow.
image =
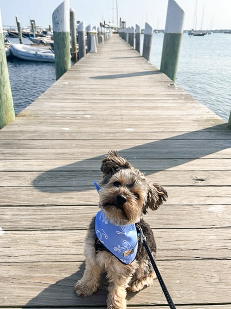
[[[176, 305], [231, 302], [230, 261], [159, 261], [158, 267]], [[0, 263], [1, 305], [105, 306], [105, 281], [92, 296], [82, 298], [73, 293], [83, 270], [81, 262]], [[166, 304], [157, 281], [136, 294], [129, 292], [127, 299], [128, 305]]]

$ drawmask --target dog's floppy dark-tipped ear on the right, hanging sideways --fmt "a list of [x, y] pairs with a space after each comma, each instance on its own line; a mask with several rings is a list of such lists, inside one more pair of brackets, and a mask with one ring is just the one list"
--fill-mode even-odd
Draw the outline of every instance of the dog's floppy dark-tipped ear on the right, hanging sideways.
[[151, 210], [156, 210], [159, 205], [161, 205], [167, 199], [167, 192], [162, 186], [153, 184], [149, 185], [147, 192], [146, 203], [143, 205], [142, 212], [145, 215], [147, 213], [147, 208]]

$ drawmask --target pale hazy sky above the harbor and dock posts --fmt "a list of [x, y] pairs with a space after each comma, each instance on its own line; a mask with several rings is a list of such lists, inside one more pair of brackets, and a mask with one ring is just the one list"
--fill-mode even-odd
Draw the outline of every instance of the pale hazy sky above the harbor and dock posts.
[[[22, 26], [29, 25], [29, 18], [35, 19], [37, 25], [48, 27], [52, 12], [61, 0], [0, 0], [3, 25], [15, 26], [15, 15]], [[164, 29], [168, 0], [117, 0], [118, 18], [126, 21], [126, 26], [136, 23], [143, 28], [147, 21], [153, 28]], [[196, 0], [177, 0], [185, 12], [184, 29], [191, 29]], [[116, 0], [69, 0], [75, 10], [77, 20], [85, 20], [86, 25], [99, 24], [104, 19], [116, 25]], [[197, 0], [196, 29], [200, 29], [202, 12], [203, 29], [231, 29], [231, 0]]]

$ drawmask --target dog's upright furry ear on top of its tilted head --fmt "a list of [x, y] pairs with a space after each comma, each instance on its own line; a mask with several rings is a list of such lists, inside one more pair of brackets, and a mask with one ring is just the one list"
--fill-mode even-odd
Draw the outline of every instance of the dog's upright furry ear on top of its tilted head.
[[109, 150], [102, 159], [101, 172], [103, 177], [113, 175], [120, 169], [130, 169], [132, 166], [126, 159], [119, 157], [117, 150]]

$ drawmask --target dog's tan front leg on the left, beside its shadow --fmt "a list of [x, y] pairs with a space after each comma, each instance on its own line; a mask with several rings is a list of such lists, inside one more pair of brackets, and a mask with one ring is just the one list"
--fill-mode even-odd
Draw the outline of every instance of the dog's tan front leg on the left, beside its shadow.
[[83, 276], [74, 286], [75, 293], [82, 297], [89, 296], [97, 290], [102, 273], [102, 268], [96, 263], [89, 259], [86, 259], [85, 263], [86, 267]]

